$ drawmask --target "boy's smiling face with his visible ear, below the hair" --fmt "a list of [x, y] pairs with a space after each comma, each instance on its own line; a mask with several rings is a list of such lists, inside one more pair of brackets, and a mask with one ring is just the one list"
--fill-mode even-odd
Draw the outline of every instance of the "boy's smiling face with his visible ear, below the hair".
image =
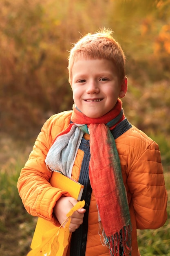
[[87, 117], [98, 118], [125, 96], [127, 78], [120, 83], [110, 60], [81, 58], [73, 64], [71, 87], [77, 108]]

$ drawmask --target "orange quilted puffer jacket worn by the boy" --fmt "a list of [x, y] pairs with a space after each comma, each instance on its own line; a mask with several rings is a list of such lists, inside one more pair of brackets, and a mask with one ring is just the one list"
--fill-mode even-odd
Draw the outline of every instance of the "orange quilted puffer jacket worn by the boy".
[[[20, 173], [17, 185], [26, 210], [31, 215], [45, 218], [55, 225], [59, 223], [53, 216], [53, 207], [62, 195], [69, 194], [51, 186], [51, 172], [47, 170], [44, 160], [55, 136], [70, 124], [71, 113], [72, 111], [62, 112], [46, 121]], [[85, 135], [85, 139], [89, 139], [88, 136]], [[115, 141], [132, 222], [132, 256], [139, 256], [136, 229], [157, 229], [167, 219], [167, 192], [159, 147], [134, 126]], [[72, 178], [76, 181], [79, 180], [83, 157], [84, 152], [79, 149], [72, 171]], [[98, 232], [98, 213], [92, 191], [86, 256], [109, 256], [108, 248], [102, 245]]]

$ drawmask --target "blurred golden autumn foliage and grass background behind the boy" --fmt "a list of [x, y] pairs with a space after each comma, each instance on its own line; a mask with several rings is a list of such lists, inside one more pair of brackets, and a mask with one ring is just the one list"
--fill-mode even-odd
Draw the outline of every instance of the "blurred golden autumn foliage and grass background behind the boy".
[[[18, 196], [20, 169], [46, 119], [72, 108], [71, 44], [101, 27], [124, 49], [124, 111], [159, 144], [170, 193], [170, 0], [1, 0], [0, 255], [29, 251], [35, 218]], [[139, 231], [139, 247], [143, 256], [170, 255], [170, 220]]]

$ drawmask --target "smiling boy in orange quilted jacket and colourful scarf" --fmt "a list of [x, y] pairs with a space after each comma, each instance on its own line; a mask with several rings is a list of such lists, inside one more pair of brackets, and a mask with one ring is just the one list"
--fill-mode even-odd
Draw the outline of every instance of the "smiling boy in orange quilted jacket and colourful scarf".
[[55, 225], [77, 201], [51, 186], [53, 171], [84, 185], [67, 256], [139, 256], [136, 229], [167, 219], [159, 147], [124, 116], [125, 56], [111, 34], [87, 34], [71, 49], [73, 111], [46, 121], [18, 180], [26, 210]]

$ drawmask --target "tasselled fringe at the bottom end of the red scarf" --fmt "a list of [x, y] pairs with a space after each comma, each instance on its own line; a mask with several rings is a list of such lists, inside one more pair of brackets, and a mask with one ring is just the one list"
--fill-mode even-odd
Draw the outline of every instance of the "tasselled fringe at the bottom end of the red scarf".
[[119, 233], [111, 237], [106, 236], [104, 229], [101, 228], [101, 222], [99, 222], [99, 229], [102, 230], [102, 236], [99, 234], [101, 243], [108, 247], [110, 256], [131, 256], [131, 225], [123, 227]]

